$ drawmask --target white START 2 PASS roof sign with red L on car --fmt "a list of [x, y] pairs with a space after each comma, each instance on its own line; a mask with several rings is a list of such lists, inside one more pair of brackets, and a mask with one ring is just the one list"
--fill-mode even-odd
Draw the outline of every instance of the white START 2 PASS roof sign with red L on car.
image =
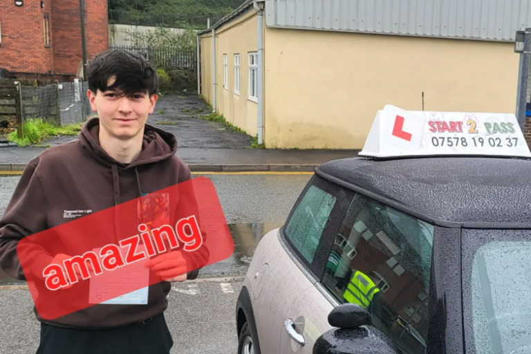
[[359, 156], [473, 155], [530, 158], [514, 114], [405, 111], [390, 104], [376, 114]]

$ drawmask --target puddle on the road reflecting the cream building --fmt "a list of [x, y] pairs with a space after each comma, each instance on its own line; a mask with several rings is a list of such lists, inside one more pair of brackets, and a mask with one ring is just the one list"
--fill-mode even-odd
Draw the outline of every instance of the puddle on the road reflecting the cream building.
[[[201, 270], [201, 277], [241, 277], [247, 272], [254, 250], [262, 237], [271, 230], [281, 227], [282, 223], [248, 223], [229, 224], [234, 240], [234, 253], [231, 257], [217, 262]], [[0, 284], [14, 283], [0, 270]], [[25, 282], [24, 282], [25, 283]]]

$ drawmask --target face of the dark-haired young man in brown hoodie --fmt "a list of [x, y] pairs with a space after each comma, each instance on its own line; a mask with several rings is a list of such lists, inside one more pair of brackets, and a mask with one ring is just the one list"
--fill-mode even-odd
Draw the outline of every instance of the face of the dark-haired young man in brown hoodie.
[[[115, 77], [111, 77], [107, 86], [111, 86]], [[149, 114], [153, 113], [157, 95], [149, 96], [147, 92], [138, 92], [126, 96], [117, 91], [88, 90], [88, 100], [93, 111], [100, 118], [100, 129], [105, 129], [109, 136], [128, 140], [143, 133]]]

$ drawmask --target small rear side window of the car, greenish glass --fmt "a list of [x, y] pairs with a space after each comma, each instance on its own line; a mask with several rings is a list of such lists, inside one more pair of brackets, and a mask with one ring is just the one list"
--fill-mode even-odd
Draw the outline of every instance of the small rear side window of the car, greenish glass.
[[308, 263], [313, 262], [335, 201], [335, 196], [311, 185], [286, 225], [286, 236]]

